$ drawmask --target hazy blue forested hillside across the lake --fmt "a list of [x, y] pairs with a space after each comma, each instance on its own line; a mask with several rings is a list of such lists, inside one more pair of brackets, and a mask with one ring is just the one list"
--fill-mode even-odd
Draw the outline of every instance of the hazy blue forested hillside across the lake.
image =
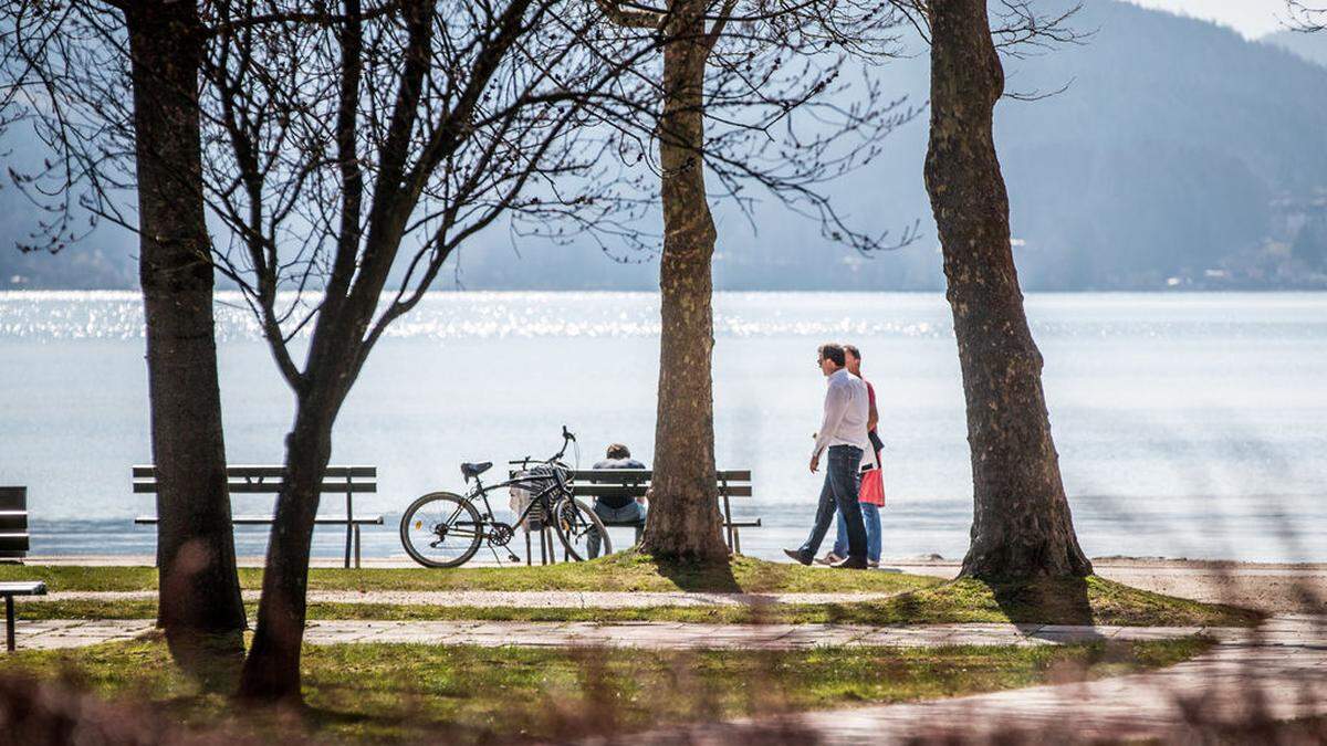
[[[1024, 288], [1327, 287], [1327, 68], [1124, 3], [1089, 3], [1075, 25], [1093, 32], [1084, 44], [1007, 61], [1013, 92], [1067, 88], [997, 109]], [[913, 52], [884, 74], [892, 94], [924, 106], [926, 58]], [[857, 227], [897, 231], [920, 220], [912, 246], [860, 256], [776, 204], [756, 208], [755, 231], [725, 206], [717, 284], [940, 288], [925, 147], [922, 112], [881, 159], [829, 188]], [[133, 284], [134, 242], [123, 232], [98, 231], [54, 259], [20, 256], [12, 246], [32, 211], [12, 187], [0, 191], [0, 287]], [[649, 255], [540, 244], [506, 230], [455, 261], [453, 276], [467, 288], [652, 288], [657, 275]]]

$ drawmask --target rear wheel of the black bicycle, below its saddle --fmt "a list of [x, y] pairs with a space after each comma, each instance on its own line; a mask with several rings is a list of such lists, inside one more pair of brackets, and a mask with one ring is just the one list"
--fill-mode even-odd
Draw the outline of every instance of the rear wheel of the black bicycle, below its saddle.
[[484, 527], [466, 498], [429, 492], [401, 516], [401, 544], [425, 567], [459, 567], [479, 551]]

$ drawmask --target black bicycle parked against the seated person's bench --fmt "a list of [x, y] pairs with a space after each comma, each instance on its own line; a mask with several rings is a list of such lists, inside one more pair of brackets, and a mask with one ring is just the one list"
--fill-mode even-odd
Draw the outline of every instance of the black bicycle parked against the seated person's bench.
[[[593, 532], [600, 536], [602, 554], [612, 554], [604, 522], [572, 495], [572, 470], [561, 459], [567, 455], [567, 446], [575, 442], [576, 435], [563, 425], [561, 450], [544, 461], [531, 457], [510, 461], [508, 465], [520, 467], [518, 475], [487, 487], [479, 477], [492, 469], [492, 462], [462, 463], [460, 474], [466, 483], [475, 481], [468, 492], [429, 492], [410, 503], [401, 516], [401, 543], [406, 554], [425, 567], [460, 567], [487, 542], [495, 559], [500, 547], [511, 561], [520, 561], [507, 546], [516, 536], [516, 528], [529, 526], [529, 520], [537, 520], [540, 531], [552, 523], [569, 559], [580, 561], [589, 556], [588, 543]], [[533, 496], [514, 522], [496, 520], [488, 494], [514, 486]]]

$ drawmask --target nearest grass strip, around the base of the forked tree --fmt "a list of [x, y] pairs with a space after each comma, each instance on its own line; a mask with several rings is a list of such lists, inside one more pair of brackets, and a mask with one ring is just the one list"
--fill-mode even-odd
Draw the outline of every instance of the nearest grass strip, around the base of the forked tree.
[[180, 673], [159, 640], [20, 650], [7, 673], [60, 677], [199, 730], [280, 741], [484, 743], [902, 702], [1099, 678], [1209, 649], [1188, 637], [1063, 646], [667, 652], [443, 645], [307, 646], [300, 717], [245, 708]]

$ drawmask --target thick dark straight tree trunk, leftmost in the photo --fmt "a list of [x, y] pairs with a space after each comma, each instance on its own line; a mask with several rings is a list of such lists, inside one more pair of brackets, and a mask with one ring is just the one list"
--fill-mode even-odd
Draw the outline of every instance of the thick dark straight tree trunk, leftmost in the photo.
[[204, 642], [243, 656], [244, 605], [226, 488], [212, 264], [204, 220], [194, 3], [130, 5], [153, 461], [159, 485], [158, 624], [188, 662]]

